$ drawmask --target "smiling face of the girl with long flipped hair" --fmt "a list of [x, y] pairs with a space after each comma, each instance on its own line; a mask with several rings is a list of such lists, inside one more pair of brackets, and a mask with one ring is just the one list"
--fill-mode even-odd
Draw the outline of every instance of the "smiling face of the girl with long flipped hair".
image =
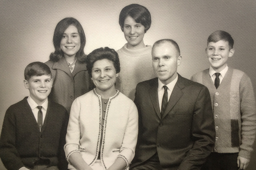
[[69, 27], [63, 33], [60, 41], [60, 48], [64, 53], [64, 57], [74, 57], [80, 49], [81, 41], [77, 28], [74, 25]]

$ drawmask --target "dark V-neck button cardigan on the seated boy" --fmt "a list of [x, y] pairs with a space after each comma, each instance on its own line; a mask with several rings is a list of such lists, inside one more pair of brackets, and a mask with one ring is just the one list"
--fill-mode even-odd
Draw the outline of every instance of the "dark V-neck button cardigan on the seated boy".
[[8, 170], [33, 167], [39, 159], [48, 159], [51, 166], [67, 169], [64, 145], [68, 113], [49, 100], [41, 132], [27, 97], [10, 106], [5, 114], [0, 138], [0, 157]]

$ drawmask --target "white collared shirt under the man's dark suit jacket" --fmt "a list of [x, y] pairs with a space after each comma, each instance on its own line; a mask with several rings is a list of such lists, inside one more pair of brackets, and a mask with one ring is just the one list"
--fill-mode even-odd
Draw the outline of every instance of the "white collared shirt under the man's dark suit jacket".
[[[167, 93], [168, 93], [168, 101], [169, 101], [169, 98], [172, 94], [172, 91], [173, 91], [173, 88], [176, 84], [178, 80], [178, 74], [176, 76], [176, 78], [170, 82], [169, 84], [167, 84]], [[160, 111], [161, 111], [161, 107], [162, 107], [162, 100], [163, 100], [163, 96], [164, 96], [164, 88], [163, 88], [164, 84], [158, 79], [158, 102], [159, 102], [159, 108], [160, 108]]]

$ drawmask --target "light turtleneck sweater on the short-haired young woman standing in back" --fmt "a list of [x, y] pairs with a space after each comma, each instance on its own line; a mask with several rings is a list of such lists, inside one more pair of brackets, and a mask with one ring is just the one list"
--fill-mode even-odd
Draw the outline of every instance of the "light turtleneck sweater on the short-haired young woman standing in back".
[[116, 51], [119, 55], [121, 70], [115, 87], [132, 100], [134, 100], [138, 83], [156, 77], [152, 67], [151, 51], [150, 45], [131, 50], [127, 48], [127, 43]]

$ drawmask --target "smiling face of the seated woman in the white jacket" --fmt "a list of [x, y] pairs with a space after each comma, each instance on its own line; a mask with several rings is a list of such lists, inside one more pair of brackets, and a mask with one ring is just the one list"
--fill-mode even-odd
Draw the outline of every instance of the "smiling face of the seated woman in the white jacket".
[[112, 61], [108, 59], [95, 61], [91, 79], [96, 86], [97, 93], [101, 95], [102, 91], [115, 91], [115, 81], [118, 74]]

